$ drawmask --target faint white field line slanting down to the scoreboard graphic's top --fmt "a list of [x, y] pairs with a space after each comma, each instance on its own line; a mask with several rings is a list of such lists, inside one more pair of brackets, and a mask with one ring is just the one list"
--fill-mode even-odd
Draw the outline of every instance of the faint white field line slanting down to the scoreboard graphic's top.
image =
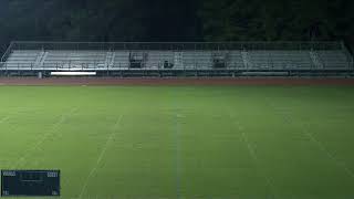
[[66, 121], [66, 118], [70, 117], [70, 116], [71, 116], [74, 112], [76, 112], [76, 111], [77, 111], [77, 108], [72, 108], [67, 114], [63, 114], [63, 115], [61, 116], [61, 118], [60, 118], [56, 123], [53, 124], [52, 128], [51, 128], [50, 130], [48, 130], [48, 132], [39, 139], [39, 142], [35, 143], [35, 145], [33, 145], [32, 148], [30, 148], [21, 158], [19, 158], [18, 161], [15, 161], [13, 168], [17, 168], [17, 167], [21, 164], [21, 161], [22, 161], [22, 163], [25, 163], [25, 159], [30, 156], [31, 151], [38, 149], [38, 148], [44, 143], [44, 140], [45, 140], [48, 137], [50, 137], [51, 135], [53, 135], [53, 134], [59, 129], [60, 125], [62, 125], [62, 124]]

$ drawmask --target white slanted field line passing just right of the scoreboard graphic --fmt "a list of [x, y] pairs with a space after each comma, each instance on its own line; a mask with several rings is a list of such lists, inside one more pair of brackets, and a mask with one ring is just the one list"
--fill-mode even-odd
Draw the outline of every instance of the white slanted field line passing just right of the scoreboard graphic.
[[86, 178], [86, 180], [85, 180], [85, 182], [84, 182], [84, 186], [83, 186], [83, 188], [82, 188], [82, 190], [81, 190], [81, 192], [80, 192], [79, 198], [82, 198], [82, 196], [85, 193], [86, 187], [87, 187], [88, 181], [90, 181], [90, 178], [91, 178], [92, 175], [94, 175], [95, 171], [97, 170], [97, 167], [98, 167], [98, 165], [101, 164], [104, 154], [106, 153], [106, 150], [107, 150], [107, 148], [108, 148], [112, 139], [113, 139], [113, 138], [115, 137], [115, 135], [116, 135], [116, 129], [117, 129], [118, 126], [121, 125], [122, 118], [123, 118], [123, 115], [121, 115], [119, 118], [117, 119], [117, 122], [114, 124], [113, 130], [112, 130], [108, 139], [107, 139], [106, 143], [104, 144], [104, 147], [103, 147], [103, 149], [102, 149], [102, 151], [101, 151], [101, 154], [100, 154], [100, 156], [98, 156], [98, 158], [97, 158], [96, 165], [91, 169], [91, 171], [90, 171], [90, 174], [88, 174], [88, 176], [87, 176], [87, 178]]

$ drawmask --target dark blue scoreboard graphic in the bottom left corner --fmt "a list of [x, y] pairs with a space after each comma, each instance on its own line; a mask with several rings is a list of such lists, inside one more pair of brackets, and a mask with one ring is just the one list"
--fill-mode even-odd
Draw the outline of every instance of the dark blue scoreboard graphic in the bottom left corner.
[[1, 170], [1, 196], [60, 196], [60, 170]]

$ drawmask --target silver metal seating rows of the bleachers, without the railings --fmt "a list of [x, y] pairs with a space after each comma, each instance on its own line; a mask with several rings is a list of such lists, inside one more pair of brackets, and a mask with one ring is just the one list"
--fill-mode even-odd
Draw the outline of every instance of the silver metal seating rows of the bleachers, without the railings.
[[[2, 70], [346, 70], [341, 50], [329, 51], [44, 51], [13, 50]], [[138, 59], [136, 59], [136, 57]], [[139, 57], [142, 57], [139, 60]], [[132, 61], [133, 60], [133, 61]]]

